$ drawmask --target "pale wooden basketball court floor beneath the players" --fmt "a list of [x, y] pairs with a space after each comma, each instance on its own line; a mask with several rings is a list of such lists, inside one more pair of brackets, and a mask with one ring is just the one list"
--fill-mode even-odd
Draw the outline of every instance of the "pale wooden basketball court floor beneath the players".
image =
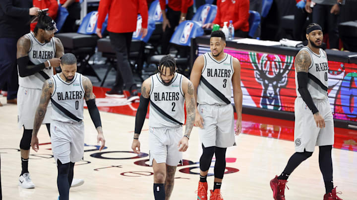
[[[96, 95], [97, 98], [104, 97], [104, 94]], [[0, 97], [0, 101], [6, 102], [5, 97]], [[100, 98], [98, 101], [101, 101]], [[129, 109], [125, 112], [135, 111], [133, 105], [126, 106]], [[137, 157], [130, 153], [135, 118], [110, 113], [110, 107], [100, 107], [100, 110], [107, 148], [100, 154], [95, 147], [96, 130], [85, 110], [84, 161], [77, 162], [74, 167], [74, 177], [82, 178], [85, 182], [82, 186], [71, 188], [69, 199], [154, 200], [152, 168], [146, 166], [149, 158], [148, 120], [140, 136], [142, 154]], [[23, 189], [17, 185], [21, 172], [19, 141], [22, 130], [17, 128], [16, 119], [16, 105], [0, 107], [3, 200], [57, 200], [57, 168], [46, 126], [42, 126], [39, 132], [39, 140], [43, 144], [40, 151], [30, 152], [29, 171], [36, 188]], [[269, 181], [281, 173], [294, 153], [294, 142], [289, 141], [293, 133], [287, 131], [291, 130], [292, 124], [294, 122], [284, 120], [278, 120], [276, 124], [274, 120], [243, 115], [243, 133], [236, 136], [237, 146], [227, 150], [227, 174], [221, 190], [225, 200], [273, 199]], [[254, 127], [258, 127], [258, 132], [254, 133]], [[171, 200], [196, 200], [199, 180], [196, 173], [199, 172], [198, 161], [202, 152], [197, 129], [193, 128], [189, 148], [183, 153], [184, 165], [177, 167]], [[339, 131], [348, 131], [353, 139], [345, 138], [345, 144], [332, 151], [334, 184], [338, 186], [337, 191], [343, 192], [340, 195], [343, 200], [357, 200], [357, 132], [346, 129]], [[283, 132], [289, 137], [286, 138]], [[213, 166], [214, 161], [210, 173], [213, 173]], [[208, 177], [208, 185], [209, 189], [213, 188], [213, 176]], [[286, 189], [287, 200], [323, 199], [325, 189], [318, 165], [318, 148], [311, 158], [293, 172], [287, 185], [290, 188]]]

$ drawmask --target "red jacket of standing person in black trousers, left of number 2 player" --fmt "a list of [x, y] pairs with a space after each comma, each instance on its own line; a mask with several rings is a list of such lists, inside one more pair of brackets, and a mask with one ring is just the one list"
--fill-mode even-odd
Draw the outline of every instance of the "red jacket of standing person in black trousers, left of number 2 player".
[[128, 33], [136, 30], [137, 14], [142, 17], [142, 28], [147, 28], [148, 8], [146, 0], [101, 0], [98, 8], [97, 27], [102, 28], [108, 15], [107, 30], [113, 33]]

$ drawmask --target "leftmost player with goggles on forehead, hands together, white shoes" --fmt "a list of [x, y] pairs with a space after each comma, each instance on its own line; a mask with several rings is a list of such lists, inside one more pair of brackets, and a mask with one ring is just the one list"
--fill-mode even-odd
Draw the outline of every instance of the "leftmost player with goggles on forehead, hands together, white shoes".
[[[19, 88], [17, 97], [18, 125], [23, 126], [20, 142], [22, 171], [19, 185], [34, 188], [28, 171], [31, 134], [36, 108], [40, 103], [41, 89], [45, 80], [54, 75], [55, 67], [60, 66], [64, 54], [61, 41], [54, 37], [56, 23], [45, 12], [39, 13], [39, 20], [33, 33], [22, 36], [17, 41], [17, 64]], [[51, 107], [51, 105], [49, 105]], [[43, 121], [50, 134], [49, 112]]]

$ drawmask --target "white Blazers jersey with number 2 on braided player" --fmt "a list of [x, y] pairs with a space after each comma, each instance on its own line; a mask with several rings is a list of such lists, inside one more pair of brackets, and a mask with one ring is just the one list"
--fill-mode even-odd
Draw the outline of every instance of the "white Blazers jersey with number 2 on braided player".
[[184, 122], [184, 96], [182, 75], [175, 73], [170, 85], [165, 85], [160, 73], [151, 77], [150, 88], [150, 127], [174, 127]]

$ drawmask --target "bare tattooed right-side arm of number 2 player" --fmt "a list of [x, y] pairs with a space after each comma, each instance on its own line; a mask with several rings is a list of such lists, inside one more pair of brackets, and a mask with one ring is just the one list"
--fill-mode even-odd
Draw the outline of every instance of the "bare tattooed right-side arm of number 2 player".
[[190, 80], [184, 78], [182, 81], [183, 84], [183, 93], [184, 93], [184, 98], [185, 98], [185, 104], [186, 104], [186, 129], [185, 129], [185, 135], [189, 136], [191, 134], [191, 130], [195, 121], [195, 116], [196, 116], [196, 108], [195, 108], [195, 98], [194, 98], [194, 87], [193, 84]]

